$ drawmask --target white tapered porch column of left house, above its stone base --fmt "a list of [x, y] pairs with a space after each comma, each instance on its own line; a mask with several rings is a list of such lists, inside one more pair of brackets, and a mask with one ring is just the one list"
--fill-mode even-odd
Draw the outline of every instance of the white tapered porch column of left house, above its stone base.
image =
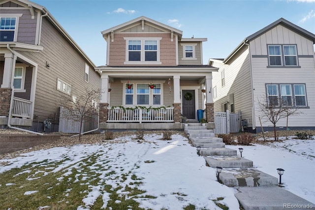
[[12, 70], [15, 68], [16, 56], [12, 53], [4, 54], [4, 70], [1, 88], [11, 88]]

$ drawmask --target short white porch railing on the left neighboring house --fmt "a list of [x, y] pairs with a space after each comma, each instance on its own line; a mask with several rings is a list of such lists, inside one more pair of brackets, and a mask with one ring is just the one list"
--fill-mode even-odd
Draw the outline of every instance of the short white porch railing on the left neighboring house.
[[32, 118], [31, 117], [31, 107], [32, 102], [25, 99], [20, 99], [13, 97], [12, 105], [12, 116], [13, 117], [23, 117], [23, 118]]

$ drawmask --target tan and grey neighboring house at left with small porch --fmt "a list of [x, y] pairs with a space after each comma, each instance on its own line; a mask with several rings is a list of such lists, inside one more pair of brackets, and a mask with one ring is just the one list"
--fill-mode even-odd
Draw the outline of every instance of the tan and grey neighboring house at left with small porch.
[[95, 65], [43, 6], [0, 2], [0, 127], [58, 131], [60, 99], [99, 88]]

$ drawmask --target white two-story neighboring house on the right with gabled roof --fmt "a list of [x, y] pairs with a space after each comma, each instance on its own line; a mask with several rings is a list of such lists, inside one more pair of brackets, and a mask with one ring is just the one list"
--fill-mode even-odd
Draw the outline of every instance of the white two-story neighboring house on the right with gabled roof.
[[[241, 111], [248, 128], [260, 132], [258, 101], [284, 101], [302, 114], [290, 129], [315, 129], [315, 35], [281, 18], [245, 38], [225, 59], [210, 59], [215, 111]], [[264, 131], [272, 124], [261, 120]], [[268, 128], [269, 127], [269, 128]], [[286, 118], [277, 123], [286, 128]]]

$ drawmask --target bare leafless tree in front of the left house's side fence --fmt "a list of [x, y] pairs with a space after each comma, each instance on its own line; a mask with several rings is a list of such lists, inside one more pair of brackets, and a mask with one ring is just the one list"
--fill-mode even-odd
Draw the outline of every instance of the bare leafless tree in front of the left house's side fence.
[[83, 122], [92, 122], [98, 111], [99, 89], [85, 89], [79, 97], [70, 96], [62, 98], [60, 105], [63, 106], [63, 117], [80, 123], [79, 140], [81, 140]]

